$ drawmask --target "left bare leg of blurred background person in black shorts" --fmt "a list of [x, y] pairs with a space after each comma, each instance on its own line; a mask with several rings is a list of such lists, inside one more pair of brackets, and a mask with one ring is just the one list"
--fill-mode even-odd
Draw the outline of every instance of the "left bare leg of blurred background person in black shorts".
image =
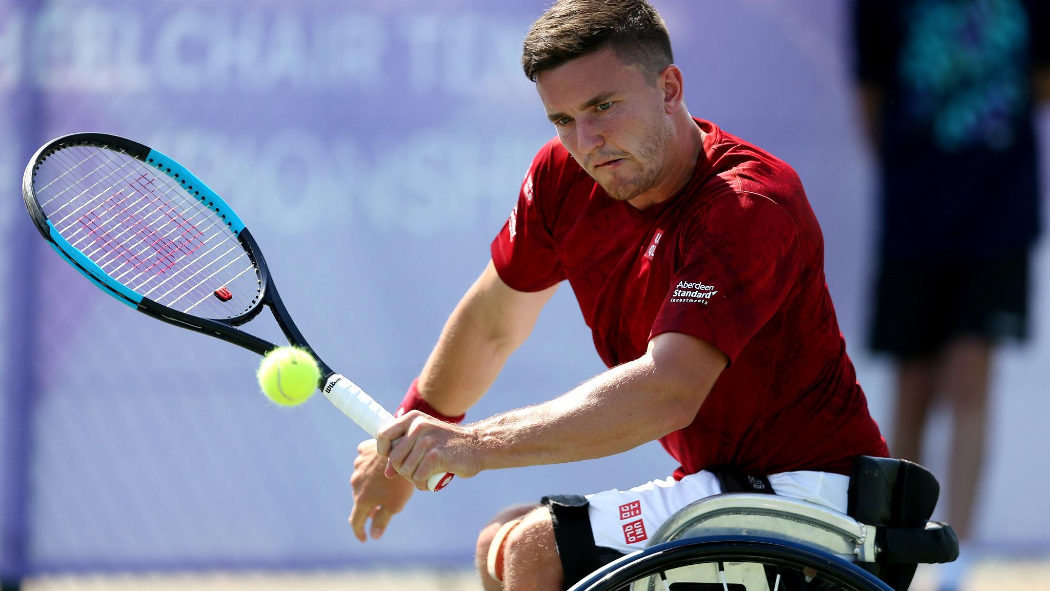
[[895, 457], [922, 462], [922, 436], [937, 392], [937, 378], [934, 364], [928, 359], [898, 363], [894, 441], [889, 447]]

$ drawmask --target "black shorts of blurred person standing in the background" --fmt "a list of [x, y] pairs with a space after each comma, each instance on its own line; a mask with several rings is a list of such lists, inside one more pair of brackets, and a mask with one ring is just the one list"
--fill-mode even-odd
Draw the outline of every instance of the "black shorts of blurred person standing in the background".
[[960, 337], [1024, 341], [1028, 267], [1027, 253], [995, 260], [882, 261], [872, 348], [898, 359], [922, 359]]

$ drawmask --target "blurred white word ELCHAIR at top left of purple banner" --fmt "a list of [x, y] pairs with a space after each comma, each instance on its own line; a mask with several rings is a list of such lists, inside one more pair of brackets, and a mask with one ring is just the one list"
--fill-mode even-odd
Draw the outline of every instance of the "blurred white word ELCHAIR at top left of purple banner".
[[128, 8], [45, 9], [33, 24], [36, 82], [69, 91], [346, 93], [384, 80], [386, 27], [369, 14], [184, 8], [152, 25]]

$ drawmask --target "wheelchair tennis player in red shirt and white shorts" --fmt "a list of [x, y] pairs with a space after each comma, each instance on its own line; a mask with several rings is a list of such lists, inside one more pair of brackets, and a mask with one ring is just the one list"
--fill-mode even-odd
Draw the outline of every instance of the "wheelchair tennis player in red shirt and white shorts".
[[[644, 0], [561, 0], [532, 25], [522, 60], [558, 138], [532, 161], [404, 413], [359, 447], [357, 536], [371, 517], [378, 537], [412, 484], [436, 472], [573, 462], [657, 439], [681, 463], [673, 478], [499, 514], [478, 542], [485, 588], [567, 588], [734, 482], [845, 511], [853, 460], [887, 451], [798, 177], [690, 116], [667, 29]], [[456, 425], [565, 280], [610, 369], [547, 403]]]

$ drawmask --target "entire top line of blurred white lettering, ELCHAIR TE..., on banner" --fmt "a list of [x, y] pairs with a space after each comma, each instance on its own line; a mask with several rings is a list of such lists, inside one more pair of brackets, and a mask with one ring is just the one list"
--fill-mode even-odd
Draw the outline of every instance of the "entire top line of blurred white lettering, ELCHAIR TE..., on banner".
[[[101, 1], [0, 22], [0, 88], [17, 84], [23, 39], [33, 82], [81, 93], [298, 90], [521, 100], [520, 24], [490, 13], [181, 7], [163, 17]], [[398, 59], [405, 56], [404, 61]], [[394, 76], [392, 76], [392, 74]], [[399, 79], [400, 77], [400, 79]]]

